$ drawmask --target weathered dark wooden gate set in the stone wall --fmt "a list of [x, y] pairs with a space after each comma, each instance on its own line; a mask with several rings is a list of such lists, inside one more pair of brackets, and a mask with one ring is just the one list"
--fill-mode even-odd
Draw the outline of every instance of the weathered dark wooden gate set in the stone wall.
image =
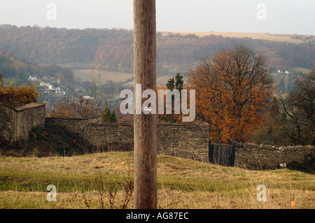
[[209, 141], [209, 163], [221, 166], [234, 166], [235, 142], [232, 145], [215, 144]]

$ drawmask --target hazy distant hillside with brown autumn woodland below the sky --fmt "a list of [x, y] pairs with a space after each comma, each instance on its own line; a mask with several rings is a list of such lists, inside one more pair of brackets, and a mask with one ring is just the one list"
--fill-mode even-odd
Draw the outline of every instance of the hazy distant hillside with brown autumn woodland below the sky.
[[[222, 48], [230, 48], [242, 42], [249, 48], [265, 52], [271, 67], [277, 69], [315, 67], [315, 44], [312, 43], [314, 36], [272, 35], [270, 37], [258, 34], [263, 36], [258, 38], [255, 34], [245, 36], [207, 34], [158, 32], [158, 64], [187, 66], [214, 55]], [[299, 41], [293, 41], [295, 38]], [[279, 41], [280, 39], [282, 41]], [[0, 50], [12, 52], [17, 57], [38, 64], [80, 63], [83, 67], [76, 67], [76, 69], [94, 68], [125, 73], [133, 71], [132, 30], [81, 30], [1, 25]]]

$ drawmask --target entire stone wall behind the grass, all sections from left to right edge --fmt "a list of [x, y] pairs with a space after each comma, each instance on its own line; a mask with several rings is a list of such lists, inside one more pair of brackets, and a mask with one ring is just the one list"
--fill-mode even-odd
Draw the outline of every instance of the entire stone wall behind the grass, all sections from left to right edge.
[[[27, 139], [32, 127], [54, 125], [80, 134], [95, 147], [111, 147], [113, 150], [132, 150], [133, 123], [95, 124], [82, 118], [45, 117], [45, 104], [30, 103], [11, 108], [0, 105], [0, 138], [11, 141]], [[209, 161], [209, 125], [207, 123], [158, 124], [158, 154]], [[314, 146], [288, 146], [237, 143], [235, 166], [241, 168], [279, 168], [280, 164], [302, 161]]]

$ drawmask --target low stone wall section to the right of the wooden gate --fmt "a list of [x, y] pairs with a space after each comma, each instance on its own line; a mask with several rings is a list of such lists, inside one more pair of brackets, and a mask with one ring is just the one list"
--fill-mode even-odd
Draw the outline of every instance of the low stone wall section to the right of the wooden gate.
[[272, 145], [237, 143], [235, 166], [241, 168], [275, 169], [280, 164], [302, 161], [307, 154], [315, 150], [312, 145], [295, 145], [276, 148]]

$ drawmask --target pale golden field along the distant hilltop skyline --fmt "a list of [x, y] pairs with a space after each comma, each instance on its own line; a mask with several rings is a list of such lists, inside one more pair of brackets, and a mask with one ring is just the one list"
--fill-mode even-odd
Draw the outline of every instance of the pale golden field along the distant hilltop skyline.
[[253, 38], [253, 39], [263, 39], [266, 41], [279, 41], [279, 42], [288, 42], [288, 43], [315, 43], [315, 36], [310, 35], [298, 35], [298, 34], [255, 34], [255, 33], [232, 33], [232, 32], [216, 32], [216, 31], [208, 31], [208, 32], [200, 32], [200, 31], [160, 31], [163, 35], [167, 35], [169, 33], [172, 34], [195, 34], [196, 36], [223, 36], [223, 37], [235, 37], [235, 38]]

